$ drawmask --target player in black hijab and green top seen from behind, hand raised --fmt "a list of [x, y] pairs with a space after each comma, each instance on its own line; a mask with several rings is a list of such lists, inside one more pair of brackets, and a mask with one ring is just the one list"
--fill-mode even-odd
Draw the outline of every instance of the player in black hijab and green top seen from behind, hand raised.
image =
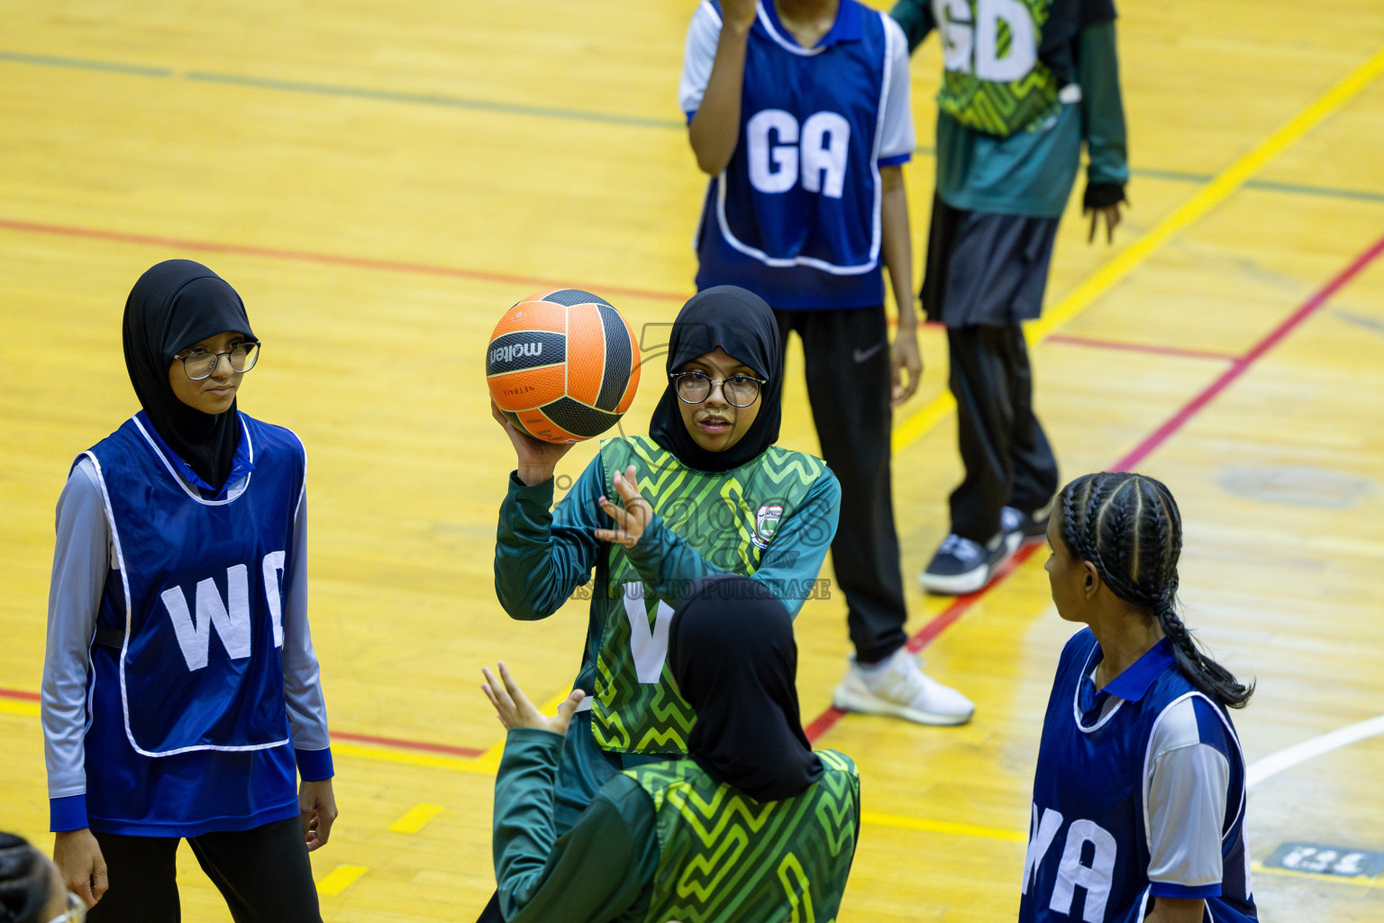
[[803, 733], [787, 610], [757, 580], [696, 581], [671, 619], [668, 664], [696, 709], [691, 760], [614, 776], [562, 836], [554, 783], [583, 692], [548, 718], [504, 664], [498, 681], [483, 670], [509, 728], [494, 821], [505, 919], [835, 920], [859, 834], [859, 776]]

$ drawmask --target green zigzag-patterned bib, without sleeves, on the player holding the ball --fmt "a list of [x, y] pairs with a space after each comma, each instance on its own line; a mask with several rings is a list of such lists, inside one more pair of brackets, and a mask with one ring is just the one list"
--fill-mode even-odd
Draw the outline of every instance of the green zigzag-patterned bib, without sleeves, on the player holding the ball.
[[[663, 527], [713, 569], [750, 576], [826, 465], [811, 455], [770, 447], [727, 472], [686, 468], [646, 436], [601, 446], [608, 497], [619, 497], [612, 476], [635, 468], [639, 493]], [[829, 537], [828, 537], [829, 540]], [[624, 548], [609, 558], [605, 624], [597, 652], [591, 729], [605, 750], [686, 753], [695, 715], [674, 692], [667, 667], [673, 606], [639, 576]]]

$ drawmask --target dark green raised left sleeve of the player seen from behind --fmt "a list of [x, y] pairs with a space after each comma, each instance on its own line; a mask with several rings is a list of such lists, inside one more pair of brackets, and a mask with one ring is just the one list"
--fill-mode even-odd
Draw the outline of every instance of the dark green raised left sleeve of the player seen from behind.
[[549, 731], [513, 728], [505, 739], [493, 840], [500, 911], [509, 923], [642, 920], [659, 865], [653, 803], [638, 782], [614, 776], [559, 837], [561, 757], [562, 738]]

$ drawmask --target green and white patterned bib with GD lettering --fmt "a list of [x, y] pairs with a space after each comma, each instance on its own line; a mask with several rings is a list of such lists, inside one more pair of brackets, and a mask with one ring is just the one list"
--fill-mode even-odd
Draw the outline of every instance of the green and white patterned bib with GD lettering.
[[1038, 60], [1053, 0], [936, 0], [945, 69], [937, 105], [999, 137], [1035, 129], [1062, 108], [1057, 77]]

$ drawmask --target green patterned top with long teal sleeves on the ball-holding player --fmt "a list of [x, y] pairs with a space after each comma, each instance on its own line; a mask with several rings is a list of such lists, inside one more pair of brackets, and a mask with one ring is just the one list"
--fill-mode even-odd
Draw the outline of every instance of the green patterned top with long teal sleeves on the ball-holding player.
[[[495, 594], [513, 619], [552, 614], [595, 574], [581, 592], [591, 606], [574, 688], [597, 700], [602, 749], [621, 753], [685, 751], [688, 706], [674, 699], [666, 675], [653, 681], [666, 667], [644, 664], [655, 675], [634, 678], [634, 660], [650, 650], [657, 660], [656, 610], [671, 614], [699, 577], [735, 572], [768, 585], [796, 616], [821, 590], [817, 577], [840, 506], [835, 475], [801, 453], [771, 447], [740, 468], [709, 475], [662, 451], [644, 437], [609, 440], [554, 509], [551, 480], [526, 487], [511, 476], [495, 538]], [[656, 487], [642, 484], [653, 516], [632, 548], [617, 548], [594, 536], [610, 526], [597, 501], [616, 495], [606, 468], [623, 469], [627, 458], [653, 472]], [[632, 598], [631, 578], [642, 583]], [[649, 617], [642, 627], [630, 614], [639, 606]]]

